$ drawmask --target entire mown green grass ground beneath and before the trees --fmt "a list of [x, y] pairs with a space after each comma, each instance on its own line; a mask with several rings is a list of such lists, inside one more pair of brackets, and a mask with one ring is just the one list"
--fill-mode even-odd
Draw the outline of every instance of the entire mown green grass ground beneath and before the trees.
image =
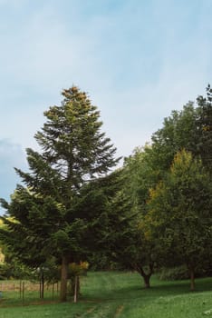
[[[198, 318], [212, 317], [212, 278], [198, 279], [197, 291], [188, 281], [161, 282], [154, 276], [146, 290], [137, 273], [88, 273], [82, 278], [79, 303], [57, 303], [51, 293], [43, 303], [31, 293], [24, 303], [17, 293], [4, 293], [1, 318]], [[33, 303], [33, 304], [32, 304]]]

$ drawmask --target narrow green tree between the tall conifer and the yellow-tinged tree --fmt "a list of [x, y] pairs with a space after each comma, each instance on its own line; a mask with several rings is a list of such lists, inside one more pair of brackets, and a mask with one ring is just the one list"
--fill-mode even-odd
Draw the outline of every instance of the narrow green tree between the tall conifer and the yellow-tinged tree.
[[145, 226], [149, 188], [158, 180], [158, 173], [150, 164], [149, 149], [149, 145], [136, 148], [129, 158], [125, 158], [122, 195], [127, 202], [126, 215], [130, 222], [113, 247], [120, 265], [140, 273], [147, 287], [160, 252], [158, 241], [149, 236]]

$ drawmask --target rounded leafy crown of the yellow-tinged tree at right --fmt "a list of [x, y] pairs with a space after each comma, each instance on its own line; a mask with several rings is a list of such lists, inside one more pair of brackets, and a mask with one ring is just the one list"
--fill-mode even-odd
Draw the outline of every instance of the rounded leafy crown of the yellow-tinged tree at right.
[[147, 224], [164, 248], [167, 263], [186, 263], [195, 271], [210, 257], [212, 204], [210, 177], [201, 161], [185, 150], [169, 174], [151, 190]]

